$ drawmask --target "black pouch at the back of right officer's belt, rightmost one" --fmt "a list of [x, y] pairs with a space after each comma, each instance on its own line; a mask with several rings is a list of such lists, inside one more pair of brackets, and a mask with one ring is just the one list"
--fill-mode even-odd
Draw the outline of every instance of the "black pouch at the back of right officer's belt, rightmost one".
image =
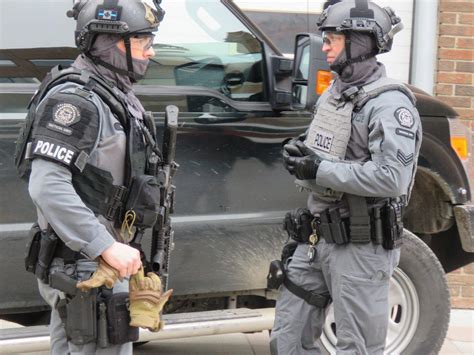
[[402, 245], [402, 210], [402, 204], [390, 201], [380, 211], [383, 229], [382, 246], [384, 249], [392, 250]]

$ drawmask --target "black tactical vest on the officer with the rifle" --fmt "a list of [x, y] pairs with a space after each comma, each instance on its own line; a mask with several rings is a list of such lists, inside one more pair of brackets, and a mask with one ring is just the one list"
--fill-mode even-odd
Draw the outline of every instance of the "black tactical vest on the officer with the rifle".
[[[121, 223], [121, 210], [126, 203], [128, 191], [134, 177], [143, 175], [148, 166], [148, 157], [155, 145], [155, 128], [153, 119], [144, 117], [143, 122], [133, 119], [127, 110], [118, 88], [112, 86], [97, 75], [75, 68], [62, 69], [59, 66], [51, 70], [41, 83], [28, 106], [23, 127], [15, 148], [15, 165], [19, 176], [28, 180], [31, 173], [31, 139], [33, 123], [37, 118], [37, 108], [49, 90], [67, 82], [78, 84], [76, 93], [90, 95], [97, 94], [110, 108], [118, 119], [126, 134], [126, 162], [124, 185], [113, 184], [112, 174], [88, 163], [89, 154], [81, 151], [72, 164], [72, 184], [82, 199], [94, 214], [102, 215], [110, 221]], [[134, 122], [135, 121], [135, 122]], [[132, 124], [132, 122], [134, 122]], [[156, 149], [155, 149], [156, 150]]]

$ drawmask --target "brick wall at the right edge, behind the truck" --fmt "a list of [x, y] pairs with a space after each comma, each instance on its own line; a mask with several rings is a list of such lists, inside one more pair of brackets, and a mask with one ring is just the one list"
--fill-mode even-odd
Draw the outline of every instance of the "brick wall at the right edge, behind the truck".
[[[456, 109], [474, 134], [473, 10], [474, 0], [439, 0], [435, 94]], [[474, 160], [474, 157], [471, 159]], [[474, 168], [469, 175], [471, 188], [474, 190]], [[448, 282], [452, 306], [474, 309], [474, 263], [451, 272]]]

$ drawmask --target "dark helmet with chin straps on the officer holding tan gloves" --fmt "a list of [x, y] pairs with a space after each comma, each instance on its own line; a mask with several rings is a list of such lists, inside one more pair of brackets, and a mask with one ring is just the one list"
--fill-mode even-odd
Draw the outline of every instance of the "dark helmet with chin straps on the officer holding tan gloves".
[[[160, 4], [161, 0], [74, 0], [73, 9], [67, 12], [67, 16], [77, 21], [74, 33], [77, 48], [96, 64], [127, 75], [134, 82], [141, 79], [133, 71], [130, 38], [150, 35], [158, 30], [165, 15]], [[123, 38], [128, 71], [90, 54], [94, 40], [100, 34]]]

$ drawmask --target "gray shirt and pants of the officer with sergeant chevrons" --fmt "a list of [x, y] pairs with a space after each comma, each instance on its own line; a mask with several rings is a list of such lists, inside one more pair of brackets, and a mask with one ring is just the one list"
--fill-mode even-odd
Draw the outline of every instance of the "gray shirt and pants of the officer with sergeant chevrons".
[[[328, 90], [318, 105], [338, 98]], [[344, 193], [343, 197], [331, 201], [311, 193], [308, 208], [314, 215], [337, 206], [347, 216], [348, 194], [368, 197], [370, 207], [382, 198], [410, 193], [421, 143], [420, 119], [412, 101], [399, 91], [384, 92], [352, 113], [350, 128], [345, 159], [323, 161], [315, 181]], [[287, 261], [287, 276], [308, 291], [331, 294], [337, 353], [382, 354], [389, 315], [389, 279], [400, 250], [385, 250], [372, 242], [337, 245], [321, 240], [313, 263], [308, 262], [307, 251], [307, 244], [298, 245]], [[284, 285], [280, 291], [272, 353], [320, 354], [316, 340], [322, 332], [325, 310], [306, 303]]]

